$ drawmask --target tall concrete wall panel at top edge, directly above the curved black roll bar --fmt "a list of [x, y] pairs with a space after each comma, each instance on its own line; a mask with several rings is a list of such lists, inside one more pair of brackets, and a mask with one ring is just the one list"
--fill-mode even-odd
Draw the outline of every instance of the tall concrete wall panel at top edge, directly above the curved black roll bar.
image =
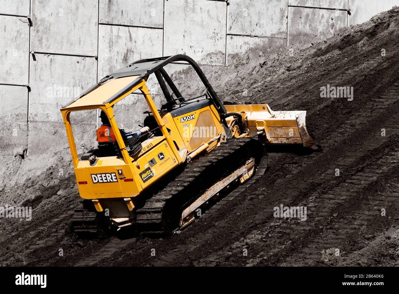
[[226, 3], [165, 1], [164, 55], [187, 54], [201, 64], [225, 63]]

